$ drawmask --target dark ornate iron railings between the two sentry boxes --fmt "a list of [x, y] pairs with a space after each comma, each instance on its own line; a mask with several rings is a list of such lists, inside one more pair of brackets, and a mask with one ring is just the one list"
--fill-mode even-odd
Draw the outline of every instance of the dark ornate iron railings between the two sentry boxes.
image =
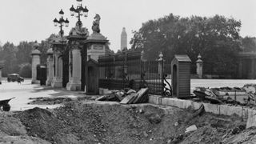
[[142, 61], [141, 52], [128, 52], [100, 56], [98, 64], [99, 87], [110, 90], [124, 90], [126, 87], [139, 90], [148, 87], [150, 94], [171, 94], [162, 58], [158, 61]]

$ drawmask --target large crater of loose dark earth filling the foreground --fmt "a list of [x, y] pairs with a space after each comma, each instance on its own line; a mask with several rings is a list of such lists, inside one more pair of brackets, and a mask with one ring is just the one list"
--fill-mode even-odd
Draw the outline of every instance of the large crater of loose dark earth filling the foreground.
[[[238, 117], [202, 114], [147, 104], [70, 102], [58, 109], [34, 108], [15, 114], [27, 134], [52, 143], [218, 143], [242, 134]], [[185, 133], [196, 125], [198, 130]]]

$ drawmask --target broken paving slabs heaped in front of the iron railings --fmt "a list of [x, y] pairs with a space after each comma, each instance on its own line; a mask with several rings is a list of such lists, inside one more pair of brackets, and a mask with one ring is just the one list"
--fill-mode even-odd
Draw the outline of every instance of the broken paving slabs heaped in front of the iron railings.
[[106, 94], [97, 98], [96, 101], [114, 101], [121, 104], [134, 104], [148, 102], [149, 88], [142, 88], [136, 92], [135, 90], [113, 90], [111, 94]]

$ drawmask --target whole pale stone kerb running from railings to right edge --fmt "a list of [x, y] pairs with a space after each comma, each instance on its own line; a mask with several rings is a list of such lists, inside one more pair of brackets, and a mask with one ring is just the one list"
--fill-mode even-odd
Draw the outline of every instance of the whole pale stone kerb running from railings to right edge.
[[210, 103], [182, 100], [178, 98], [162, 98], [162, 96], [158, 95], [150, 95], [149, 102], [156, 105], [174, 106], [181, 109], [191, 108], [192, 110], [198, 110], [198, 108], [203, 104], [207, 113], [227, 116], [235, 114], [238, 117], [247, 120], [246, 128], [256, 126], [256, 110], [252, 110], [244, 106], [215, 105]]

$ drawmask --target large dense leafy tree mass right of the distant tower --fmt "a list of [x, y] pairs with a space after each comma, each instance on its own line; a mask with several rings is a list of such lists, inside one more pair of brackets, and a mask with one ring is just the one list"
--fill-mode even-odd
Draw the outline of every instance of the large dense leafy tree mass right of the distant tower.
[[201, 54], [207, 74], [232, 74], [240, 50], [240, 27], [241, 22], [220, 15], [180, 18], [170, 14], [143, 23], [134, 31], [130, 44], [131, 49], [144, 50], [146, 58], [152, 60], [158, 58], [160, 51], [165, 59], [173, 59], [174, 54], [188, 54], [193, 73]]

